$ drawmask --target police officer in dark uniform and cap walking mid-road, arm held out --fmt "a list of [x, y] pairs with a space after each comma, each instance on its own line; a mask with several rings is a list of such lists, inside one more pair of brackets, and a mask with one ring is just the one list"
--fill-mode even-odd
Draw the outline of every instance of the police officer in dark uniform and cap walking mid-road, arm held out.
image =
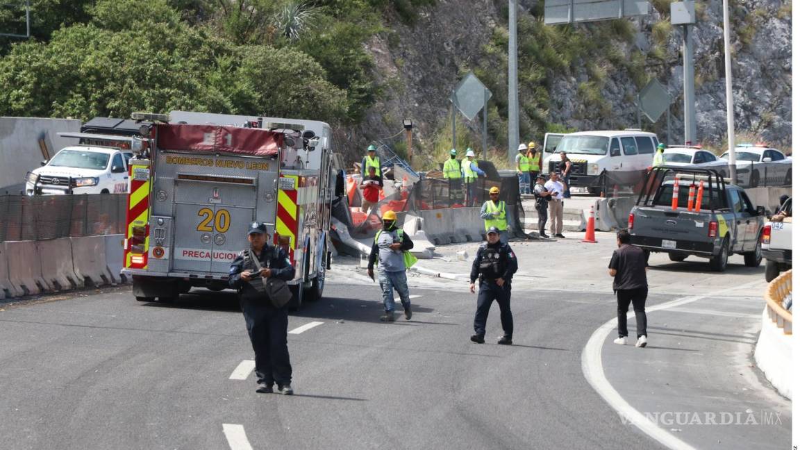
[[517, 272], [517, 257], [507, 243], [500, 242], [500, 231], [489, 227], [486, 243], [478, 248], [478, 255], [472, 262], [470, 272], [470, 292], [475, 291], [475, 280], [480, 279], [478, 291], [478, 310], [475, 311], [475, 334], [470, 340], [483, 344], [486, 334], [486, 317], [492, 302], [497, 300], [500, 307], [500, 321], [503, 335], [498, 344], [511, 345], [514, 335], [514, 317], [511, 315], [511, 278]]

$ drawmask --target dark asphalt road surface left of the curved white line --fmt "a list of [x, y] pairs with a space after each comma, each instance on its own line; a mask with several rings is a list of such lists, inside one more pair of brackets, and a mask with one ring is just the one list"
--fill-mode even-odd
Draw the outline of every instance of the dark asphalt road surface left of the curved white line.
[[[610, 291], [515, 290], [506, 347], [492, 339], [497, 307], [487, 344], [470, 342], [476, 295], [464, 283], [419, 279], [414, 318], [380, 323], [377, 284], [333, 278], [326, 299], [290, 315], [290, 330], [321, 322], [289, 335], [294, 396], [256, 394], [252, 372], [231, 379], [253, 354], [230, 291], [160, 304], [116, 287], [0, 304], [0, 448], [662, 448], [582, 372], [587, 340], [614, 317]], [[630, 362], [620, 350], [604, 357]]]

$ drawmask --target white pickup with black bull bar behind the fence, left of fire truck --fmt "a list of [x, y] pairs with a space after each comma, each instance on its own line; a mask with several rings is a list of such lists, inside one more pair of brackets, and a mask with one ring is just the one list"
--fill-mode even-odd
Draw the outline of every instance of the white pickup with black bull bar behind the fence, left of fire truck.
[[27, 195], [110, 194], [128, 191], [128, 159], [114, 147], [64, 147], [26, 177]]

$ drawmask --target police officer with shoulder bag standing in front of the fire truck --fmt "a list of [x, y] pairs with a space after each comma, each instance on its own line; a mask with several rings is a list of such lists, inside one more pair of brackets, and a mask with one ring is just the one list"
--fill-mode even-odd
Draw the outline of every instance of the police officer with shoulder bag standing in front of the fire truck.
[[[250, 249], [241, 251], [231, 263], [228, 283], [239, 292], [239, 305], [255, 352], [255, 375], [258, 378], [255, 392], [271, 393], [273, 384], [278, 384], [278, 392], [292, 395], [292, 366], [286, 346], [288, 306], [272, 305], [266, 296], [262, 278], [289, 281], [294, 278], [294, 267], [285, 251], [266, 243], [265, 224], [252, 223], [247, 240], [250, 241]], [[249, 250], [261, 263], [261, 271], [250, 259]]]

